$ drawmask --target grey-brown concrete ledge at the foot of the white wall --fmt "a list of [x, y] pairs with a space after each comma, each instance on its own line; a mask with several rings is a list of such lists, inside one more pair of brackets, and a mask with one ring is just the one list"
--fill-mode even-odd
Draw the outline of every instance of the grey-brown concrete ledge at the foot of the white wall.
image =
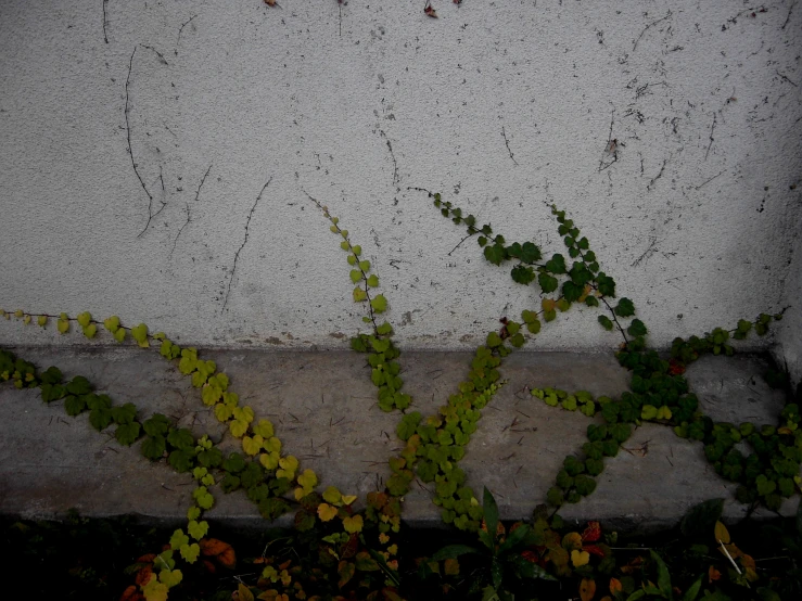
[[[55, 365], [66, 376], [86, 375], [115, 404], [135, 402], [142, 418], [158, 411], [198, 435], [209, 433], [224, 450], [238, 448], [189, 379], [156, 353], [130, 347], [12, 350], [42, 368]], [[231, 389], [254, 408], [257, 419], [273, 421], [284, 448], [315, 470], [323, 486], [364, 497], [389, 477], [386, 460], [402, 448], [394, 433], [398, 415], [375, 406], [364, 356], [260, 350], [208, 350], [201, 356], [231, 378]], [[400, 362], [413, 408], [430, 414], [466, 376], [470, 354], [404, 353]], [[714, 419], [776, 423], [784, 399], [760, 378], [766, 366], [755, 356], [705, 358], [687, 375]], [[628, 373], [611, 354], [519, 353], [502, 367], [508, 383], [483, 411], [461, 465], [476, 490], [483, 485], [493, 490], [502, 517], [520, 519], [545, 500], [564, 457], [581, 450], [588, 423], [578, 412], [546, 406], [527, 387], [616, 395], [626, 389]], [[654, 529], [673, 525], [689, 507], [713, 497], [727, 499], [726, 516], [746, 513], [733, 498], [735, 487], [705, 461], [701, 444], [646, 424], [625, 447], [606, 461], [590, 497], [563, 508], [564, 517], [602, 520], [619, 529]], [[111, 434], [92, 430], [86, 415], [67, 417], [61, 401], [48, 406], [36, 391], [0, 387], [0, 513], [58, 517], [77, 508], [92, 516], [180, 522], [192, 488], [191, 477], [151, 463], [138, 445], [123, 448]], [[404, 517], [409, 524], [440, 524], [430, 489], [419, 483], [407, 495]], [[264, 527], [243, 494], [219, 493], [216, 499], [209, 519]], [[788, 500], [782, 512], [795, 511], [797, 502]]]

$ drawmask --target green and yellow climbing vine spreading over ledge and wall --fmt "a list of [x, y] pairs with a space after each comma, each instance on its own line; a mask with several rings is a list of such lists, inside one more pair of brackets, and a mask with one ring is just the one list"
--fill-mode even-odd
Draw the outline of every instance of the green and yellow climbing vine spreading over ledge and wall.
[[[98, 431], [114, 426], [114, 436], [120, 445], [141, 440], [140, 449], [145, 458], [165, 461], [178, 472], [190, 473], [195, 481], [186, 528], [176, 529], [165, 550], [153, 554], [139, 568], [137, 583], [145, 599], [166, 599], [169, 589], [181, 583], [179, 560], [189, 565], [213, 554], [208, 550], [216, 547], [209, 542], [213, 539], [208, 538], [209, 525], [203, 514], [214, 506], [214, 487], [224, 493], [242, 489], [269, 521], [294, 510], [301, 541], [318, 553], [319, 566], [311, 572], [300, 563], [293, 565], [292, 561], [266, 560], [257, 586], [252, 589], [241, 584], [239, 589], [240, 598], [249, 594], [253, 598], [256, 592], [264, 599], [289, 593], [300, 599], [314, 598], [316, 590], [328, 590], [321, 583], [328, 583], [326, 586], [335, 583], [343, 596], [364, 597], [370, 591], [374, 599], [399, 599], [397, 553], [402, 508], [404, 496], [416, 478], [434, 484], [433, 502], [441, 508], [446, 524], [479, 533], [493, 565], [508, 565], [511, 574], [535, 579], [550, 578], [545, 571], [549, 564], [558, 575], [570, 573], [570, 565], [583, 574], [582, 567], [588, 564], [590, 553], [607, 558], [609, 549], [596, 544], [600, 535], [590, 526], [583, 535], [574, 533], [576, 536], [568, 544], [564, 538], [555, 544], [557, 535], [551, 528], [559, 524], [556, 512], [565, 502], [577, 502], [595, 490], [595, 478], [603, 471], [604, 459], [615, 457], [633, 427], [642, 422], [672, 426], [678, 436], [703, 443], [705, 457], [715, 471], [739, 484], [736, 496], [741, 502], [752, 507], [763, 503], [777, 510], [782, 499], [799, 488], [802, 429], [799, 429], [800, 411], [795, 404], [786, 405], [778, 424], [713, 422], [699, 410], [698, 399], [683, 376], [686, 367], [701, 355], [731, 355], [735, 353], [731, 340], [743, 340], [752, 332], [765, 334], [772, 321], [781, 319], [781, 314], [761, 314], [754, 321], [740, 320], [731, 330], [716, 328], [700, 337], [676, 338], [666, 360], [647, 348], [648, 329], [636, 317], [635, 304], [627, 297], [618, 297], [615, 281], [601, 270], [588, 239], [563, 210], [551, 208], [568, 258], [561, 253], [546, 256], [532, 241], [508, 243], [489, 225], [478, 223], [473, 215], [463, 215], [459, 207], [443, 201], [440, 193], [415, 190], [427, 193], [444, 217], [466, 227], [466, 239], [475, 238], [488, 263], [509, 267], [513, 282], [535, 286], [539, 303], [523, 308], [520, 321], [505, 317], [501, 328], [487, 333], [484, 344], [473, 355], [467, 378], [435, 413], [424, 417], [411, 411], [413, 399], [403, 392], [400, 350], [393, 343], [393, 327], [383, 320], [389, 300], [379, 292], [379, 276], [340, 219], [326, 205], [308, 196], [339, 236], [354, 285], [353, 300], [365, 308], [362, 321], [368, 331], [354, 336], [351, 347], [366, 355], [380, 409], [399, 414], [396, 434], [404, 448], [389, 459], [392, 475], [383, 489], [368, 495], [362, 511], [354, 508], [356, 496], [344, 495], [332, 486], [319, 493], [322, 483], [318, 475], [309, 469], [302, 470], [298, 459], [283, 449], [273, 424], [257, 419], [252, 407], [241, 405], [229, 378], [217, 370], [214, 361], [199, 357], [196, 348], [182, 348], [162, 332], [151, 334], [143, 323], [124, 325], [116, 316], [101, 322], [89, 312], [69, 317], [0, 310], [0, 316], [7, 319], [13, 315], [25, 324], [36, 322], [41, 328], [55, 320], [61, 334], [77, 327], [87, 338], [93, 338], [103, 328], [117, 343], [131, 338], [142, 348], [158, 347], [161, 356], [174, 361], [191, 379], [202, 402], [240, 440], [241, 451], [226, 457], [208, 435], [195, 438], [191, 431], [178, 427], [161, 413], [140, 415], [130, 402], [115, 406], [109, 395], [96, 392], [84, 376], [65, 381], [55, 367], [38, 371], [33, 363], [0, 351], [0, 380], [12, 381], [17, 388], [38, 387], [46, 402], [63, 400], [68, 415], [77, 418], [87, 413], [90, 425]], [[603, 311], [598, 316], [600, 325], [621, 336], [623, 342], [616, 358], [632, 371], [631, 392], [613, 399], [595, 398], [583, 391], [532, 389], [533, 396], [549, 406], [578, 410], [588, 418], [600, 415], [603, 423], [589, 424], [581, 452], [565, 458], [546, 498], [551, 515], [540, 509], [532, 526], [518, 525], [514, 532], [507, 533], [498, 522], [492, 495], [485, 490], [480, 503], [466, 485], [467, 476], [459, 462], [479, 427], [482, 410], [505, 384], [500, 372], [505, 357], [575, 304]], [[750, 455], [737, 447], [741, 440], [751, 446]], [[542, 548], [543, 552], [522, 555], [518, 552], [521, 546]], [[505, 554], [512, 550], [517, 554]], [[435, 564], [441, 560], [456, 561], [462, 552], [468, 551], [444, 551], [434, 558]], [[654, 561], [660, 565], [658, 559]], [[455, 573], [455, 564], [447, 564], [444, 570]], [[501, 594], [499, 574], [504, 570], [499, 570], [492, 571], [488, 586]], [[584, 571], [586, 575], [588, 570]], [[613, 588], [611, 585], [611, 592]]]

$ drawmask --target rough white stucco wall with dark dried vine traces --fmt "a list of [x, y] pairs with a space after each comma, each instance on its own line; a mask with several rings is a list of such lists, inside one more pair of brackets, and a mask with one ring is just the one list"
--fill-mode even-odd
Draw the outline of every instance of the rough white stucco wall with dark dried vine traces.
[[[462, 230], [408, 187], [550, 253], [557, 203], [658, 345], [782, 306], [802, 5], [280, 4], [0, 0], [0, 306], [342, 346], [361, 314], [307, 192], [362, 244], [407, 347], [473, 346], [539, 303], [453, 251]], [[573, 312], [540, 348], [616, 344]]]

